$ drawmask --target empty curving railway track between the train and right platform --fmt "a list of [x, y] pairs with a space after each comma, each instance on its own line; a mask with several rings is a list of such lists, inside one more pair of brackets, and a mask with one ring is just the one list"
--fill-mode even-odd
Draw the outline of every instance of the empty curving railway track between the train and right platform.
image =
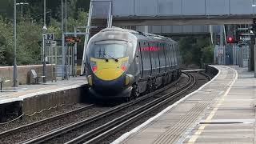
[[[143, 115], [150, 113], [150, 111], [157, 109], [159, 106], [162, 106], [166, 102], [170, 102], [180, 96], [181, 94], [185, 93], [187, 90], [190, 90], [196, 80], [192, 74], [185, 73], [187, 77], [189, 78], [189, 82], [186, 83], [186, 85], [182, 86], [181, 89], [174, 90], [170, 93], [163, 94], [160, 97], [154, 98], [154, 100], [146, 102], [142, 106], [138, 106], [138, 108], [134, 110], [130, 110], [128, 113], [120, 114], [117, 118], [113, 118], [109, 122], [105, 122], [104, 125], [96, 126], [90, 130], [81, 130], [82, 128], [85, 128], [86, 126], [90, 126], [93, 122], [97, 122], [101, 119], [110, 117], [110, 115], [117, 114], [118, 111], [122, 111], [129, 106], [134, 106], [138, 104], [138, 102], [142, 102], [146, 98], [154, 97], [154, 95], [159, 94], [167, 89], [169, 89], [171, 86], [174, 86], [178, 81], [174, 82], [170, 86], [166, 86], [160, 90], [156, 90], [153, 93], [146, 94], [145, 96], [142, 96], [141, 98], [138, 98], [132, 102], [127, 102], [124, 104], [121, 104], [119, 106], [115, 106], [113, 108], [110, 108], [110, 110], [106, 110], [105, 112], [101, 114], [96, 114], [90, 118], [85, 118], [82, 121], [74, 122], [68, 126], [60, 127], [56, 130], [52, 130], [46, 134], [39, 135], [38, 137], [31, 138], [27, 141], [24, 141], [22, 143], [57, 143], [54, 140], [57, 138], [59, 139], [65, 139], [69, 138], [70, 136], [66, 136], [68, 134], [71, 134], [74, 132], [76, 135], [74, 138], [70, 138], [68, 140], [65, 139], [66, 143], [79, 143], [79, 142], [86, 142], [86, 143], [94, 143], [101, 141], [102, 138], [108, 137], [110, 134], [113, 134], [114, 132], [122, 129], [123, 127], [129, 125], [131, 122], [136, 121], [138, 118], [142, 118]], [[58, 141], [59, 142], [59, 141]]]

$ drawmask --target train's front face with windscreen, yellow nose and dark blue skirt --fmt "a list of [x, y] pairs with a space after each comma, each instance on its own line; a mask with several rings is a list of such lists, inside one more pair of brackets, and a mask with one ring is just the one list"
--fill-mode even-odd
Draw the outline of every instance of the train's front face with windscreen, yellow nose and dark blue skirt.
[[86, 76], [94, 98], [129, 97], [134, 76], [128, 74], [132, 44], [116, 39], [90, 42], [86, 58]]

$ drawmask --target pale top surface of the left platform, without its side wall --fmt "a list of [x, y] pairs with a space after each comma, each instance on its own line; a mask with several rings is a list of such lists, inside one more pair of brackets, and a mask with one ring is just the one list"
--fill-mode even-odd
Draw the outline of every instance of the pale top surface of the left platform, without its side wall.
[[48, 94], [61, 90], [69, 90], [87, 84], [85, 76], [70, 77], [69, 80], [58, 80], [57, 82], [46, 82], [37, 85], [19, 85], [17, 88], [4, 87], [0, 92], [0, 104], [22, 101], [39, 94]]

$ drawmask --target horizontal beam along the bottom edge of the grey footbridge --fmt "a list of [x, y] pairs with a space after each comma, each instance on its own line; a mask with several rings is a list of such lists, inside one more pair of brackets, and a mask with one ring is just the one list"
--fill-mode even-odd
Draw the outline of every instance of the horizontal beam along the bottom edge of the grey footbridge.
[[[98, 18], [97, 18], [98, 19]], [[99, 18], [100, 19], [100, 18]], [[114, 26], [228, 25], [252, 24], [252, 15], [114, 17]]]

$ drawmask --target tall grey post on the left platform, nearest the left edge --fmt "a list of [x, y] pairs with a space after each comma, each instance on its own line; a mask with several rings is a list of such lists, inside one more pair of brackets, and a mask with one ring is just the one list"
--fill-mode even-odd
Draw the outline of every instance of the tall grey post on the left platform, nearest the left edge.
[[18, 69], [16, 59], [17, 49], [17, 36], [16, 36], [16, 0], [14, 0], [14, 87], [18, 87]]

